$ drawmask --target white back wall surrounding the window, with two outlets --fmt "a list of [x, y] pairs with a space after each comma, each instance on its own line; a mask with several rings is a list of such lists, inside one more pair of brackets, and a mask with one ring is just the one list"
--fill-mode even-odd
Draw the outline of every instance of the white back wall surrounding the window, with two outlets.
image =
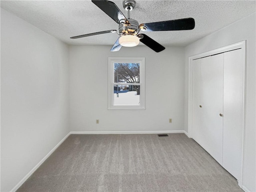
[[[110, 48], [70, 46], [71, 131], [184, 130], [184, 49]], [[108, 57], [145, 57], [146, 110], [107, 110]]]

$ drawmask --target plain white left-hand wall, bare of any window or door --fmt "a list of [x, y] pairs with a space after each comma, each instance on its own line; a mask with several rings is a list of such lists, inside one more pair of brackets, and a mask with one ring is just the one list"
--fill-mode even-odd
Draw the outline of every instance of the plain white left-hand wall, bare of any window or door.
[[66, 136], [68, 46], [1, 9], [1, 191]]

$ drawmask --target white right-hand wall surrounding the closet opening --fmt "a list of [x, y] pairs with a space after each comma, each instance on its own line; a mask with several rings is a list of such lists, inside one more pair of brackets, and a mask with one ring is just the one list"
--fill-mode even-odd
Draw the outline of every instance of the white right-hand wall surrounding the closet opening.
[[256, 88], [256, 27], [255, 13], [198, 40], [185, 48], [185, 100], [184, 128], [188, 131], [188, 57], [236, 42], [247, 40], [246, 69], [246, 128], [244, 146], [244, 167], [242, 185], [250, 191], [256, 191], [256, 144], [255, 144], [255, 88]]

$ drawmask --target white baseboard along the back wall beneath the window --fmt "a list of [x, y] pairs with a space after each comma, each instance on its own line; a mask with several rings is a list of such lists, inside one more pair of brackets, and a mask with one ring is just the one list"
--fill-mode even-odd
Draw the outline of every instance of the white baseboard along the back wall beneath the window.
[[185, 133], [179, 131], [71, 131], [70, 134], [163, 134], [163, 133]]

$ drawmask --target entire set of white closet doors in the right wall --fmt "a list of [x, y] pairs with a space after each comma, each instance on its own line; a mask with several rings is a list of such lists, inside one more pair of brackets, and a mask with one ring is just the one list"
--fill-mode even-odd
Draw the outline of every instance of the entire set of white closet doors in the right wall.
[[195, 59], [192, 69], [192, 138], [241, 184], [244, 44]]

